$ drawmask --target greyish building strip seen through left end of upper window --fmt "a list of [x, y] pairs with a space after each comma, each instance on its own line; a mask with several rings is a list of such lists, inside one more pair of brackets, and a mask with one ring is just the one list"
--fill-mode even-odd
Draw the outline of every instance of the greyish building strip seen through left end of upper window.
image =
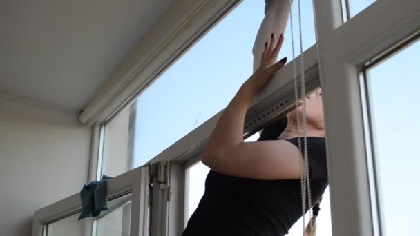
[[[104, 154], [102, 155], [102, 174], [115, 177], [131, 170], [133, 156], [133, 121], [135, 110], [130, 106], [116, 115], [105, 126]], [[102, 175], [100, 175], [102, 176]]]

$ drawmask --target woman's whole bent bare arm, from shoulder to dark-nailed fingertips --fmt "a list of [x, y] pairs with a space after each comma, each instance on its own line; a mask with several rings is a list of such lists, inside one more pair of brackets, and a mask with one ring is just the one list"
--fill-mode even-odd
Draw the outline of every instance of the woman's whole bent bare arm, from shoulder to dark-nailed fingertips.
[[245, 114], [257, 92], [282, 68], [287, 58], [276, 62], [284, 41], [280, 35], [276, 42], [271, 35], [265, 43], [260, 67], [249, 77], [220, 116], [210, 135], [209, 144], [202, 153], [202, 162], [212, 170], [227, 175], [253, 179], [298, 179], [300, 177], [299, 152], [288, 141], [258, 141], [245, 143], [243, 127]]

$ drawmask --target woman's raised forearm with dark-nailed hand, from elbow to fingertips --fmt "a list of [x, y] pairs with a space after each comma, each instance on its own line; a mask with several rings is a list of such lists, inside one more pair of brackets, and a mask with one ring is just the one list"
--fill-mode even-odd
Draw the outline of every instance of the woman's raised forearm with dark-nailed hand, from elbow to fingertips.
[[283, 39], [283, 35], [280, 35], [276, 43], [276, 37], [274, 34], [271, 35], [270, 43], [265, 43], [260, 68], [240, 87], [235, 97], [222, 112], [216, 128], [210, 135], [209, 144], [202, 153], [202, 161], [207, 166], [218, 166], [225, 163], [228, 153], [234, 152], [235, 148], [242, 144], [245, 114], [252, 100], [287, 61], [287, 57], [285, 57], [276, 62]]

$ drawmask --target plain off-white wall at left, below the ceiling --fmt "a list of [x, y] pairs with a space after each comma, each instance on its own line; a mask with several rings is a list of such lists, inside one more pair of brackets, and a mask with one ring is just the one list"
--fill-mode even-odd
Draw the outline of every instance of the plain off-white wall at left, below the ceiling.
[[0, 97], [0, 235], [30, 235], [35, 210], [77, 193], [89, 151], [76, 119]]

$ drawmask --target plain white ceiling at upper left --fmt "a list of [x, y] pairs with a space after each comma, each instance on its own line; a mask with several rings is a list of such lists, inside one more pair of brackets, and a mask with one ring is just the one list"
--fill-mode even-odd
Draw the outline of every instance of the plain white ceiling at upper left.
[[0, 94], [82, 110], [174, 1], [1, 1]]

